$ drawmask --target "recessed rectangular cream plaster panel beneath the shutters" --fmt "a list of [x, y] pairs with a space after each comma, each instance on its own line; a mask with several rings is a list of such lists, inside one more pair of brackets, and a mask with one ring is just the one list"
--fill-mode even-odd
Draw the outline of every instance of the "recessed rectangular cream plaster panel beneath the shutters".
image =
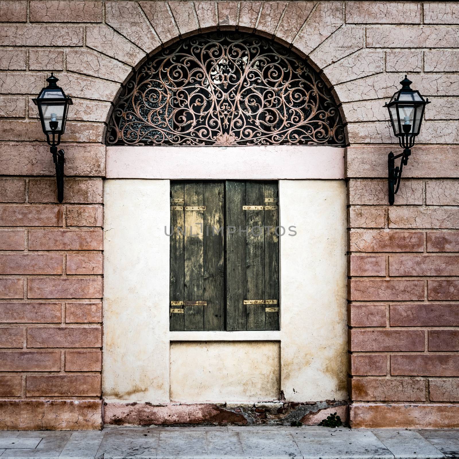
[[278, 400], [279, 342], [171, 342], [170, 384], [173, 402]]

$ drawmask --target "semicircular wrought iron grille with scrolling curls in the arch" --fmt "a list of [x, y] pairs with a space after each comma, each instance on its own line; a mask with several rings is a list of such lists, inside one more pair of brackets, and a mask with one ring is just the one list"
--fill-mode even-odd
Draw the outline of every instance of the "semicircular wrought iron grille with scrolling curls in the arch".
[[152, 56], [123, 85], [108, 145], [344, 145], [330, 90], [284, 46], [214, 32]]

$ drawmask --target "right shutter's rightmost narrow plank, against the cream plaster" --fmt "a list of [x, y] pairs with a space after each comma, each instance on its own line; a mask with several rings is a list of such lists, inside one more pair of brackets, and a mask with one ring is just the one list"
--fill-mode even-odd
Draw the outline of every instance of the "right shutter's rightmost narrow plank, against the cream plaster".
[[[277, 183], [267, 183], [264, 185], [264, 197], [273, 199], [274, 202], [266, 202], [267, 205], [279, 206], [279, 185]], [[280, 311], [279, 302], [279, 236], [275, 233], [275, 228], [279, 225], [279, 210], [264, 211], [264, 225], [271, 226], [265, 228], [264, 253], [265, 253], [265, 276], [264, 292], [266, 300], [278, 300], [277, 306]], [[278, 234], [281, 234], [279, 229]], [[270, 305], [267, 305], [268, 307]], [[279, 312], [266, 313], [266, 330], [279, 330]]]

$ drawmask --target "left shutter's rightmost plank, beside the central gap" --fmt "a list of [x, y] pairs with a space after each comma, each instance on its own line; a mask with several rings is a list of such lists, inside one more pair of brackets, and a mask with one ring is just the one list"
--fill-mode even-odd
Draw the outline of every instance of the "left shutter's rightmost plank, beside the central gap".
[[204, 182], [204, 206], [204, 330], [224, 330], [224, 182]]

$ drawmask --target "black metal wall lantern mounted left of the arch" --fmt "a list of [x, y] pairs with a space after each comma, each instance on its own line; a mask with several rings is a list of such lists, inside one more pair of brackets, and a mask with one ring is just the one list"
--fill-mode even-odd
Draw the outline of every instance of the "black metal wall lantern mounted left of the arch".
[[34, 104], [38, 107], [41, 128], [46, 134], [46, 142], [50, 146], [54, 164], [56, 164], [57, 199], [64, 199], [64, 150], [57, 151], [61, 143], [61, 135], [64, 134], [67, 120], [67, 108], [72, 105], [70, 96], [65, 95], [62, 88], [57, 86], [58, 79], [51, 73], [46, 78], [48, 87], [43, 88]]

